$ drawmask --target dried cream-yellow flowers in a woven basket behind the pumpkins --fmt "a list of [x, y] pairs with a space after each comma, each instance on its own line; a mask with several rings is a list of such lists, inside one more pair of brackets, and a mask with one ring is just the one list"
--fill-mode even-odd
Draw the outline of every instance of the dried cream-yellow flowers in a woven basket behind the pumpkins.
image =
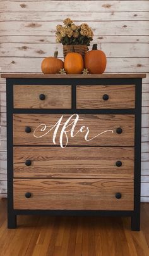
[[66, 54], [73, 51], [84, 57], [90, 42], [93, 40], [92, 29], [86, 23], [75, 25], [70, 18], [66, 18], [63, 23], [64, 26], [56, 26], [56, 42], [63, 44], [64, 58]]

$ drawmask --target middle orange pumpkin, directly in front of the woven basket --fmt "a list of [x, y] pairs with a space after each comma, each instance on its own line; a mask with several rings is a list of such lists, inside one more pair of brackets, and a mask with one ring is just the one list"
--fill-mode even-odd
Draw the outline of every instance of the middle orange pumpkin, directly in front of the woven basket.
[[84, 67], [80, 53], [68, 53], [64, 59], [64, 69], [67, 74], [81, 74]]

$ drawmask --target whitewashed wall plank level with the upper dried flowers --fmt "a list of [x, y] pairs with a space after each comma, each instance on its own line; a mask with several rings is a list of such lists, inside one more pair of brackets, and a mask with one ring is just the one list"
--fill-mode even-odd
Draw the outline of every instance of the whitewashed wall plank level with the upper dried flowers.
[[[48, 1], [45, 3], [49, 4]], [[45, 6], [45, 4], [43, 4]], [[35, 7], [35, 6], [34, 6]], [[94, 35], [148, 35], [149, 21], [87, 22]], [[80, 24], [80, 22], [78, 23]], [[55, 35], [57, 22], [26, 21], [1, 22], [3, 35]]]

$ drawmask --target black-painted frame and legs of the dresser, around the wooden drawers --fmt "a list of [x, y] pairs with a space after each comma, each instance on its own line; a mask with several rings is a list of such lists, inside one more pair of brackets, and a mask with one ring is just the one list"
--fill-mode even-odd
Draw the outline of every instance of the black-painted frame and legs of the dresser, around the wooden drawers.
[[[71, 109], [15, 109], [13, 108], [13, 85], [71, 85]], [[136, 87], [134, 109], [76, 109], [76, 85], [131, 85]], [[130, 216], [131, 229], [140, 231], [140, 178], [141, 178], [141, 78], [7, 78], [7, 168], [8, 168], [8, 228], [16, 228], [16, 215], [92, 215]], [[121, 87], [119, 88], [121, 89]], [[13, 113], [67, 113], [67, 114], [134, 114], [134, 210], [15, 210], [13, 208]], [[16, 145], [15, 145], [16, 146]], [[23, 145], [22, 145], [23, 146]], [[31, 145], [30, 145], [31, 146]], [[83, 145], [84, 146], [84, 145]], [[86, 145], [87, 146], [87, 145]]]

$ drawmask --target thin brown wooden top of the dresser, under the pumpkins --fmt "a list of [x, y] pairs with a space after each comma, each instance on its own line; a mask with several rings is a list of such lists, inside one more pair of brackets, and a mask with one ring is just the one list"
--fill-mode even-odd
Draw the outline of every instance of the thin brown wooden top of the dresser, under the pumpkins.
[[106, 79], [106, 78], [145, 78], [146, 74], [102, 74], [102, 75], [44, 75], [44, 74], [27, 74], [27, 73], [4, 73], [1, 74], [2, 78], [43, 78], [43, 79], [86, 79], [86, 78], [97, 78], [97, 79]]

